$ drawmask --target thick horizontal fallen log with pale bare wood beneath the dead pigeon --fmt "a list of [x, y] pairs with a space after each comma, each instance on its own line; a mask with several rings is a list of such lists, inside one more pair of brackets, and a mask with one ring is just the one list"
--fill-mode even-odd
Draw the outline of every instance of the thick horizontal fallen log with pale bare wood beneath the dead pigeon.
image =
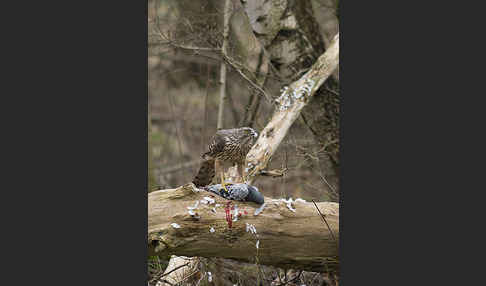
[[[255, 216], [258, 205], [253, 203], [213, 196], [214, 203], [204, 204], [201, 203], [204, 197], [212, 197], [212, 194], [195, 188], [193, 184], [149, 194], [149, 255], [222, 257], [316, 272], [338, 268], [337, 203], [317, 203], [326, 216], [335, 241], [313, 203], [293, 202], [290, 205], [295, 209], [293, 212], [285, 202], [265, 198], [265, 208]], [[196, 214], [191, 215], [187, 207], [198, 201], [197, 209], [193, 210]], [[225, 219], [224, 208], [228, 202], [237, 205], [243, 213], [232, 222], [231, 228]], [[255, 227], [256, 234], [247, 231], [247, 223]], [[214, 232], [210, 231], [211, 228]]]

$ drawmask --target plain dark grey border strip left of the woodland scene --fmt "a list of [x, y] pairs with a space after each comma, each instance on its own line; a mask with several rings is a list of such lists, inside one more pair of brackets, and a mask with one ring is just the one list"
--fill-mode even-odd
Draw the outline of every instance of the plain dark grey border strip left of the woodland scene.
[[3, 284], [146, 285], [147, 1], [12, 4]]

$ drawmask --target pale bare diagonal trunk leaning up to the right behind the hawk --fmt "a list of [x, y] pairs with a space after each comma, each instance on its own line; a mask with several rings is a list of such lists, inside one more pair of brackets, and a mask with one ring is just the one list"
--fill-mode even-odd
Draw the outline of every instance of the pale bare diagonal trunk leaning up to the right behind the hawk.
[[284, 89], [282, 95], [277, 99], [279, 105], [272, 119], [260, 132], [257, 142], [246, 157], [245, 177], [255, 176], [267, 166], [270, 157], [287, 135], [290, 126], [300, 116], [301, 110], [334, 72], [338, 64], [339, 34], [336, 35], [331, 46], [319, 57], [311, 69], [299, 80]]

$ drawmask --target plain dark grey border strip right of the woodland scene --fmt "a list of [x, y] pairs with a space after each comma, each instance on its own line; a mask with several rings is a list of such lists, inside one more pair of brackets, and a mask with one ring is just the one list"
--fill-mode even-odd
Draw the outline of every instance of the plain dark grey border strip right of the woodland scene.
[[339, 2], [340, 285], [475, 284], [481, 10]]

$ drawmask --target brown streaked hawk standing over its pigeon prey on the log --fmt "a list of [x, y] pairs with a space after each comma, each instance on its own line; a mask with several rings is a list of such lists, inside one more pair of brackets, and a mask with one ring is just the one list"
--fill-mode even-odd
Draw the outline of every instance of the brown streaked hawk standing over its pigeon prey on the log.
[[258, 133], [250, 127], [221, 129], [214, 134], [208, 145], [208, 151], [202, 155], [203, 162], [193, 180], [196, 187], [207, 186], [215, 173], [221, 174], [221, 184], [226, 189], [223, 179], [223, 163], [238, 165], [238, 174], [243, 177], [246, 154], [250, 151]]

